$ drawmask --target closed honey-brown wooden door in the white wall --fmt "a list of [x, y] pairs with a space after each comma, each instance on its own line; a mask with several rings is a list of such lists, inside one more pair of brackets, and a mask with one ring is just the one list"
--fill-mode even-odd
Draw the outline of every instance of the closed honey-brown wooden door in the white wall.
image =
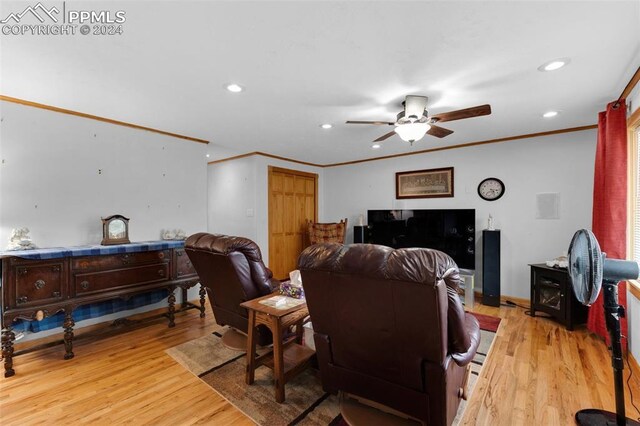
[[269, 268], [278, 279], [297, 267], [306, 221], [318, 219], [318, 175], [269, 167]]

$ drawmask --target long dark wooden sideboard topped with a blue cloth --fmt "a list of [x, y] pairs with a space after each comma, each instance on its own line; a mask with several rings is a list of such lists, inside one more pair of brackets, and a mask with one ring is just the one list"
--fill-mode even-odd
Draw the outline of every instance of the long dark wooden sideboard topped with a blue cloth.
[[[2, 357], [13, 376], [12, 324], [63, 311], [65, 359], [73, 358], [73, 310], [81, 305], [167, 289], [169, 327], [175, 326], [175, 289], [198, 283], [183, 241], [69, 247], [2, 253]], [[205, 291], [200, 289], [200, 316]]]

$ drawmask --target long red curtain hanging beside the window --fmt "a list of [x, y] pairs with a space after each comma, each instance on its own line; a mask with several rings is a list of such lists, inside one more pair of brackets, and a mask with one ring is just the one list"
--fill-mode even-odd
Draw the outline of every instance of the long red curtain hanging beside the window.
[[[627, 106], [624, 100], [612, 102], [598, 114], [598, 145], [593, 182], [593, 226], [600, 248], [610, 259], [625, 259], [627, 254]], [[627, 306], [626, 282], [618, 286], [620, 304]], [[587, 328], [609, 344], [602, 307], [602, 292], [589, 309]], [[622, 319], [622, 335], [627, 335], [627, 320]], [[622, 347], [627, 340], [623, 338]]]

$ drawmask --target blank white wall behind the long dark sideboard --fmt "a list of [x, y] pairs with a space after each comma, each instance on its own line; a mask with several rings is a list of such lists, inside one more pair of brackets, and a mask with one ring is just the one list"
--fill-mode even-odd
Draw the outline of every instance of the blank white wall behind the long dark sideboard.
[[38, 247], [100, 244], [100, 218], [115, 213], [131, 219], [131, 241], [206, 229], [206, 145], [9, 102], [0, 116], [0, 249], [23, 226]]

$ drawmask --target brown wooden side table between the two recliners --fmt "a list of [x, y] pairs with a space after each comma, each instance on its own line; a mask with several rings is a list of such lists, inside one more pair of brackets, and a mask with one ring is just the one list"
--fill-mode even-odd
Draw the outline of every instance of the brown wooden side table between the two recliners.
[[[246, 382], [253, 384], [255, 370], [265, 365], [273, 370], [276, 401], [284, 402], [284, 385], [292, 377], [302, 372], [310, 364], [315, 351], [302, 345], [302, 322], [309, 315], [307, 304], [302, 303], [288, 309], [278, 309], [260, 303], [261, 300], [275, 296], [270, 294], [244, 303], [240, 306], [249, 311], [247, 338]], [[264, 324], [273, 334], [273, 350], [256, 357], [255, 328]], [[296, 326], [296, 336], [283, 342], [284, 331]]]

